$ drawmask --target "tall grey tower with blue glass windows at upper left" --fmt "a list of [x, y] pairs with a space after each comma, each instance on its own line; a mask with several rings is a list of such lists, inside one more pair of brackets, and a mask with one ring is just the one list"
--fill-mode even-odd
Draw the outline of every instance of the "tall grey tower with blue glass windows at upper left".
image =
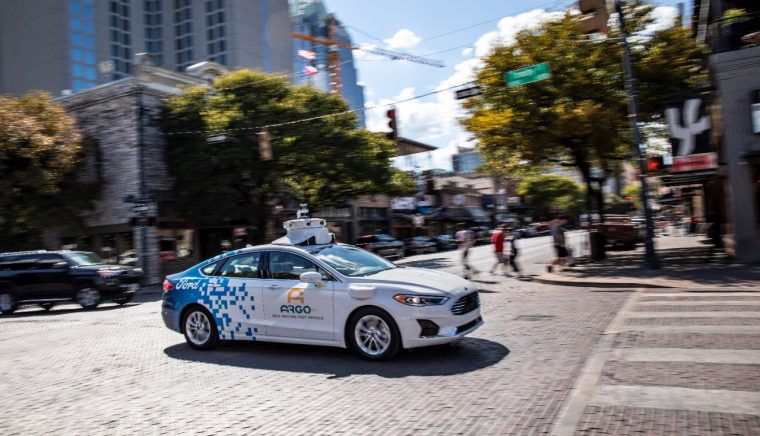
[[0, 1], [0, 92], [81, 91], [131, 74], [136, 53], [290, 73], [287, 0]]

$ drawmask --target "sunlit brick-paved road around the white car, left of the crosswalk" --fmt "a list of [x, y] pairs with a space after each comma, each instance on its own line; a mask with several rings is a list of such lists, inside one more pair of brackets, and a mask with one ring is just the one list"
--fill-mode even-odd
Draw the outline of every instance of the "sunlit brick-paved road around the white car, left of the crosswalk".
[[[0, 434], [549, 432], [631, 294], [484, 280], [483, 328], [385, 363], [279, 344], [195, 351], [164, 328], [157, 295], [0, 317]], [[550, 318], [516, 319], [531, 315]]]

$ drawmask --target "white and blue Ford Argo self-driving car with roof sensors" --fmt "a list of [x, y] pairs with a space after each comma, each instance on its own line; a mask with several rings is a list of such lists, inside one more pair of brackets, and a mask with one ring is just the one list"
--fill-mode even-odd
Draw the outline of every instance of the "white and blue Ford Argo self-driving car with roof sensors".
[[336, 243], [325, 224], [302, 210], [272, 244], [166, 277], [164, 323], [196, 349], [284, 342], [349, 348], [369, 360], [449, 343], [483, 324], [469, 281]]

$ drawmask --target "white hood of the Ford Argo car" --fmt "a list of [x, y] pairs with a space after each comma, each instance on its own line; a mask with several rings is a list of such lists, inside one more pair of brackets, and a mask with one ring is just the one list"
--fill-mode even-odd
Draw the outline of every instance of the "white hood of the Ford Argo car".
[[475, 291], [468, 280], [442, 271], [423, 268], [392, 268], [366, 277], [352, 277], [352, 283], [393, 286], [424, 294], [460, 295]]

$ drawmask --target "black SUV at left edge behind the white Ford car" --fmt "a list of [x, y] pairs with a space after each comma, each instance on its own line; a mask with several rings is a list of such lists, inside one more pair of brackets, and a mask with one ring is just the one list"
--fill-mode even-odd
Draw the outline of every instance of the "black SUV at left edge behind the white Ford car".
[[70, 300], [85, 309], [105, 300], [125, 304], [139, 289], [141, 278], [141, 269], [106, 265], [87, 251], [0, 253], [0, 313], [13, 313], [19, 304], [50, 310]]

